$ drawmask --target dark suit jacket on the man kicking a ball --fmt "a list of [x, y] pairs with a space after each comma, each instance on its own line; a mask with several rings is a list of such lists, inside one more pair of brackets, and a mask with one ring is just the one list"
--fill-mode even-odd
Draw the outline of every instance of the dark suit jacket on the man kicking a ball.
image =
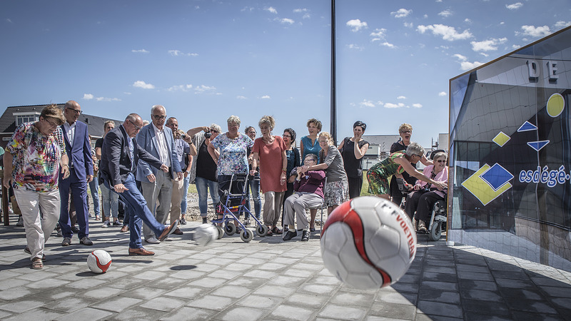
[[[133, 141], [133, 158], [129, 151], [128, 139]], [[127, 175], [131, 173], [131, 167], [138, 159], [156, 168], [161, 168], [161, 161], [138, 146], [134, 138], [129, 138], [123, 125], [111, 129], [103, 139], [101, 147], [101, 178], [107, 180], [113, 187], [119, 183], [125, 183]], [[133, 167], [133, 170], [135, 168]]]

